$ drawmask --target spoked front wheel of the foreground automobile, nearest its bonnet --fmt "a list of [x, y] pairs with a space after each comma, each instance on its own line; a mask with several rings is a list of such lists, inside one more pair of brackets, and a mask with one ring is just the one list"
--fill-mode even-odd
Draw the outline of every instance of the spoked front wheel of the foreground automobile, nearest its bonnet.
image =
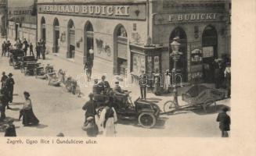
[[139, 125], [150, 129], [156, 124], [156, 117], [152, 113], [143, 112], [139, 115]]

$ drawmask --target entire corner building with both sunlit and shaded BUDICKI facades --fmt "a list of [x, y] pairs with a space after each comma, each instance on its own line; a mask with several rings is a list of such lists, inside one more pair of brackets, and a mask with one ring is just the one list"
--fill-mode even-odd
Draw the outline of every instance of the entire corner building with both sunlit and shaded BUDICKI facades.
[[214, 59], [230, 55], [229, 5], [227, 0], [39, 0], [38, 39], [49, 52], [81, 65], [93, 49], [102, 73], [139, 76], [172, 69], [170, 44], [178, 37], [183, 81], [207, 79]]

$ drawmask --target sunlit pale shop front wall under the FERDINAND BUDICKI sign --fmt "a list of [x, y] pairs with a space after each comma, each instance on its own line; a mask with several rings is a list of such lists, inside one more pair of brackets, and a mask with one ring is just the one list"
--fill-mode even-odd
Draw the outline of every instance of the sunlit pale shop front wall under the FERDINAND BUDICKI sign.
[[129, 45], [144, 45], [146, 28], [146, 2], [38, 2], [46, 48], [81, 66], [92, 58], [93, 69], [110, 76], [130, 72]]

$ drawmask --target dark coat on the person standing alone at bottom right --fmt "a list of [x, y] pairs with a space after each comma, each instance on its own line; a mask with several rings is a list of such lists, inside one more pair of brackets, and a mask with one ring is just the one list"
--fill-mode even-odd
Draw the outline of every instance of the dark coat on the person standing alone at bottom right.
[[230, 130], [230, 117], [225, 112], [221, 112], [218, 114], [217, 122], [219, 122], [219, 128], [222, 131], [229, 131]]

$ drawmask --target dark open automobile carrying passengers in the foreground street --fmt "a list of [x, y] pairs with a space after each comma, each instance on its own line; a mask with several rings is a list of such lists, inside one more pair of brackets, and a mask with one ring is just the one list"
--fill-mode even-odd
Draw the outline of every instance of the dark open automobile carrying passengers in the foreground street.
[[[99, 116], [104, 107], [105, 106], [100, 106], [98, 108], [97, 114]], [[133, 104], [130, 96], [127, 96], [127, 100], [124, 101], [114, 100], [114, 108], [117, 112], [119, 121], [124, 119], [135, 119], [139, 122], [140, 126], [148, 129], [155, 126], [160, 115], [160, 108], [158, 105], [140, 98]]]

